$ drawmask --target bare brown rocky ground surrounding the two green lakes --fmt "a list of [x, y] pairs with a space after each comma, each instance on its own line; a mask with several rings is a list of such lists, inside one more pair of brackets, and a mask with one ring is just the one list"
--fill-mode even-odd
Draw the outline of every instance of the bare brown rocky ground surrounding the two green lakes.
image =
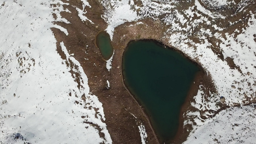
[[[91, 8], [86, 7], [86, 16], [94, 23], [91, 24], [90, 22], [82, 22], [77, 16], [78, 13], [74, 6], [82, 8], [80, 0], [62, 1], [70, 3], [70, 5], [63, 5], [63, 7], [67, 8], [71, 13], [61, 12], [61, 16], [71, 24], [56, 22], [56, 24], [67, 29], [68, 36], [59, 29], [52, 28], [57, 40], [57, 51], [61, 55], [61, 58], [65, 59], [65, 55], [60, 47], [60, 42], [63, 41], [69, 53], [73, 53], [73, 57], [83, 67], [88, 77], [91, 93], [98, 96], [99, 101], [103, 105], [106, 118], [104, 122], [107, 124], [113, 144], [140, 144], [141, 137], [138, 129], [140, 123], [145, 125], [147, 144], [158, 144], [158, 138], [146, 113], [123, 85], [121, 64], [124, 48], [126, 48], [128, 42], [131, 40], [156, 39], [167, 45], [167, 40], [161, 38], [166, 31], [165, 26], [161, 21], [155, 21], [150, 18], [141, 20], [140, 22], [143, 24], [132, 22], [118, 26], [115, 29], [112, 40], [114, 48], [112, 69], [108, 72], [106, 61], [101, 57], [99, 49], [95, 45], [95, 37], [98, 32], [107, 27], [107, 24], [100, 16], [103, 13], [101, 4], [97, 0], [88, 0]], [[56, 17], [56, 15], [53, 16]], [[79, 74], [75, 73], [75, 75], [78, 76]], [[193, 109], [190, 101], [197, 94], [199, 84], [202, 83], [203, 77], [206, 77], [203, 71], [197, 73], [195, 84], [192, 84], [186, 102], [181, 109], [179, 130], [171, 143], [181, 144], [189, 134], [187, 130], [191, 130], [192, 128], [189, 125], [183, 128], [183, 113], [188, 109]], [[107, 80], [110, 82], [110, 88], [107, 88]], [[79, 87], [79, 82], [77, 81], [77, 83]]]

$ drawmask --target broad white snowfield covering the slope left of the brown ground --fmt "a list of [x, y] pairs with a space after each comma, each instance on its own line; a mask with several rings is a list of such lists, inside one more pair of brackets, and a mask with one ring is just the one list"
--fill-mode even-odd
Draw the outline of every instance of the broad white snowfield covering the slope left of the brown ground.
[[50, 28], [68, 33], [51, 23], [51, 3], [5, 1], [0, 8], [0, 143], [110, 144], [102, 104], [89, 94], [83, 68], [61, 43], [80, 73], [78, 88], [69, 72], [74, 68], [56, 51]]

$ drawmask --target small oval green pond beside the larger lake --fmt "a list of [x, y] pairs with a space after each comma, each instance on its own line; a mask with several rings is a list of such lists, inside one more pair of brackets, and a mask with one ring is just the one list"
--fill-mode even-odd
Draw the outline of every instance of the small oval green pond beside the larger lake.
[[105, 60], [109, 60], [113, 54], [110, 35], [105, 31], [98, 33], [96, 36], [96, 45], [99, 48], [102, 57]]

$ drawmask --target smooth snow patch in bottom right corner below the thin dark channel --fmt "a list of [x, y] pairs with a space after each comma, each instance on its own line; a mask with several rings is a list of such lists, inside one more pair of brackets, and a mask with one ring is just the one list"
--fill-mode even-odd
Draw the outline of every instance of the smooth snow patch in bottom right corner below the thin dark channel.
[[183, 144], [253, 144], [256, 142], [255, 105], [228, 108], [196, 128]]

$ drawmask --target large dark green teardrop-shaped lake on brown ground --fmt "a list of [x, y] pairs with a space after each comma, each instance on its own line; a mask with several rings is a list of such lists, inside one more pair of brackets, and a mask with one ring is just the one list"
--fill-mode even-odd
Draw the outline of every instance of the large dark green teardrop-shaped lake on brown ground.
[[199, 70], [179, 52], [156, 41], [132, 41], [124, 51], [124, 83], [146, 109], [161, 143], [175, 136], [180, 109]]

